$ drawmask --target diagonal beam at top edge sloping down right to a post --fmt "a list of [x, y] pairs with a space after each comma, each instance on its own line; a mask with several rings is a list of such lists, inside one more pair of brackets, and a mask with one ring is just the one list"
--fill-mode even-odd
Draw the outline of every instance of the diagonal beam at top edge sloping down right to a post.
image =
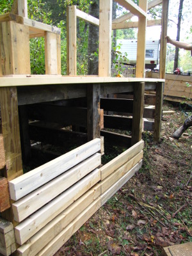
[[147, 13], [137, 4], [133, 3], [132, 0], [115, 0], [115, 2], [122, 5], [125, 9], [129, 10], [129, 12], [138, 17], [146, 17], [147, 15]]

